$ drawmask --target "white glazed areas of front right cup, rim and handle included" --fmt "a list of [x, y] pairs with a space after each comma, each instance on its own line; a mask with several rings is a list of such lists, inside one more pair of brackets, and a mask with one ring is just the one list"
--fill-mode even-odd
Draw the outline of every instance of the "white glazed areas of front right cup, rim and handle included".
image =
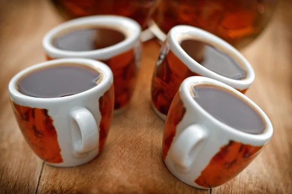
[[[262, 116], [266, 124], [264, 132], [261, 134], [245, 133], [220, 122], [207, 113], [190, 93], [191, 87], [200, 83], [221, 86], [248, 102]], [[186, 112], [182, 121], [177, 125], [164, 162], [175, 177], [188, 185], [209, 189], [194, 181], [201, 175], [220, 148], [230, 141], [244, 145], [264, 146], [272, 138], [273, 126], [268, 116], [248, 97], [222, 82], [200, 76], [189, 77], [181, 84], [179, 94]]]

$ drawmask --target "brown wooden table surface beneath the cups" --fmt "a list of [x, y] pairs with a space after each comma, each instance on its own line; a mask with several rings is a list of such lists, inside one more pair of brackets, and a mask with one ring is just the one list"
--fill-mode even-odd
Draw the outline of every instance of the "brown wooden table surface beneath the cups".
[[276, 194], [292, 192], [292, 1], [280, 1], [271, 25], [242, 50], [256, 71], [247, 92], [270, 117], [274, 137], [251, 165], [212, 190], [173, 177], [162, 161], [164, 123], [150, 108], [150, 80], [159, 45], [144, 44], [128, 112], [115, 116], [102, 154], [74, 168], [44, 164], [18, 129], [7, 85], [21, 69], [44, 61], [43, 35], [63, 21], [46, 0], [0, 2], [0, 193], [2, 194]]

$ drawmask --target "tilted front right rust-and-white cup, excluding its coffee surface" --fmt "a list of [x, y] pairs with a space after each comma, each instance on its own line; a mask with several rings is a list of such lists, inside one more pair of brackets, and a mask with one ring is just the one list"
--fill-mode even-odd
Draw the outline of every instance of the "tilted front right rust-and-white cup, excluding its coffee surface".
[[[262, 119], [262, 132], [252, 134], [215, 118], [194, 100], [191, 90], [198, 84], [222, 88], [243, 100]], [[216, 111], [224, 114], [223, 110]], [[272, 135], [271, 121], [248, 97], [222, 82], [190, 77], [181, 84], [167, 114], [163, 158], [175, 177], [196, 188], [209, 189], [236, 177], [255, 159]]]

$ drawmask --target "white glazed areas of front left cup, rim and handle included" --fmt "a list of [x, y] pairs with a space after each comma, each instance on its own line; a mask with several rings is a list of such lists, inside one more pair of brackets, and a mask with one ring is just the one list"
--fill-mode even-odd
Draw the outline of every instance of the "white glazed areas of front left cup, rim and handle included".
[[[68, 63], [97, 69], [101, 72], [103, 80], [90, 90], [67, 97], [30, 97], [18, 91], [17, 82], [27, 73], [51, 65]], [[48, 110], [49, 116], [54, 120], [53, 125], [63, 162], [47, 163], [52, 166], [69, 167], [89, 162], [101, 151], [98, 150], [101, 120], [98, 100], [110, 89], [112, 83], [112, 72], [104, 63], [82, 58], [56, 59], [20, 71], [9, 82], [9, 95], [18, 105]]]

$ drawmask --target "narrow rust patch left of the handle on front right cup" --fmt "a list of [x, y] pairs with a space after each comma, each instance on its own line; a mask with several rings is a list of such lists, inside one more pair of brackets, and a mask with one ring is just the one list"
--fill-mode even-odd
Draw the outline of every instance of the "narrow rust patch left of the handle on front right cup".
[[164, 160], [175, 136], [176, 128], [178, 124], [182, 121], [184, 114], [185, 108], [183, 106], [183, 101], [180, 97], [180, 93], [177, 93], [173, 99], [173, 102], [171, 103], [169, 114], [167, 115], [165, 121], [162, 144], [162, 153]]

